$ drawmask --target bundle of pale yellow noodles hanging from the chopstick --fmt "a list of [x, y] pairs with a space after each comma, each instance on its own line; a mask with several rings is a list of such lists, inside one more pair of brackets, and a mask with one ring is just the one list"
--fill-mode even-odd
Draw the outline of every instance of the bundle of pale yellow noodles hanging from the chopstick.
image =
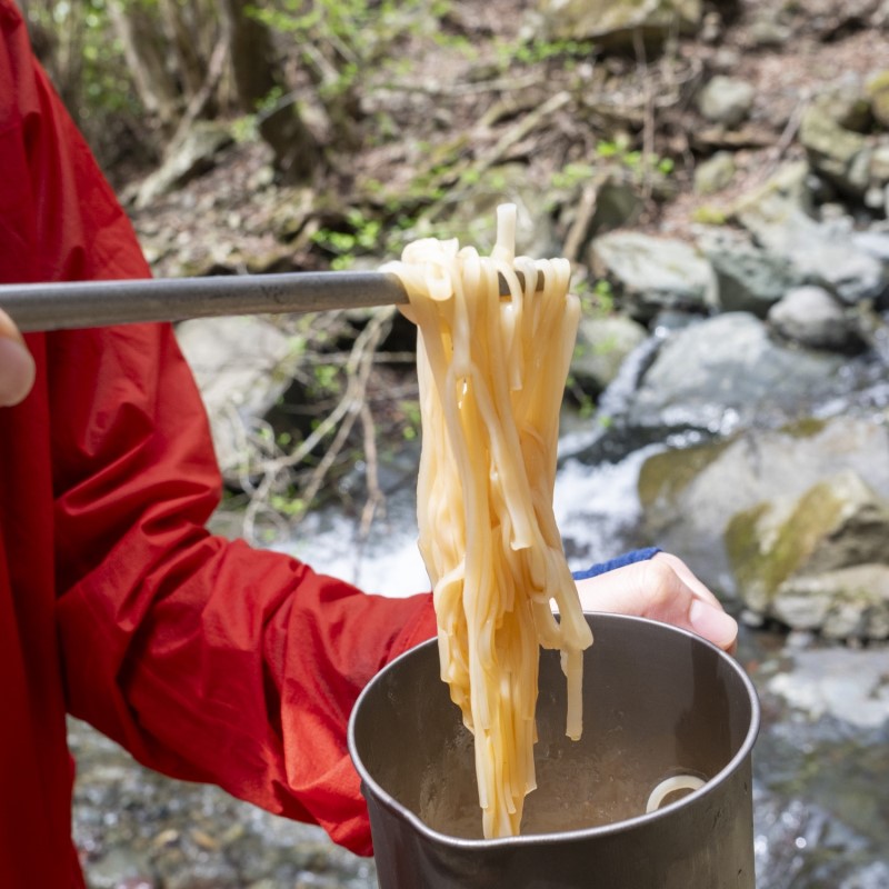
[[552, 511], [580, 304], [567, 260], [516, 257], [515, 206], [500, 207], [490, 257], [426, 239], [386, 267], [404, 283], [419, 329], [419, 546], [441, 678], [475, 735], [489, 838], [519, 832], [536, 787], [540, 646], [561, 650], [566, 731], [579, 738], [582, 651], [592, 642]]

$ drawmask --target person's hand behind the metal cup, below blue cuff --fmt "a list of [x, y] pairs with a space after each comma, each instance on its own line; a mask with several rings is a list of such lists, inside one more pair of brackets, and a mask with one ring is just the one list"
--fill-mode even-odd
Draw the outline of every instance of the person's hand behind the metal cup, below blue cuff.
[[676, 556], [659, 552], [646, 561], [577, 581], [585, 611], [651, 618], [702, 636], [733, 651], [738, 625], [719, 600]]

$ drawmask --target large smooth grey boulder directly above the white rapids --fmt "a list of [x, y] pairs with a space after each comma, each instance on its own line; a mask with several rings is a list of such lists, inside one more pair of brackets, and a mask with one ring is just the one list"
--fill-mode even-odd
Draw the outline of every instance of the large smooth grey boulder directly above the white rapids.
[[831, 391], [841, 362], [773, 342], [758, 318], [726, 312], [667, 339], [623, 421], [651, 437], [725, 433], [755, 420], [778, 424]]

